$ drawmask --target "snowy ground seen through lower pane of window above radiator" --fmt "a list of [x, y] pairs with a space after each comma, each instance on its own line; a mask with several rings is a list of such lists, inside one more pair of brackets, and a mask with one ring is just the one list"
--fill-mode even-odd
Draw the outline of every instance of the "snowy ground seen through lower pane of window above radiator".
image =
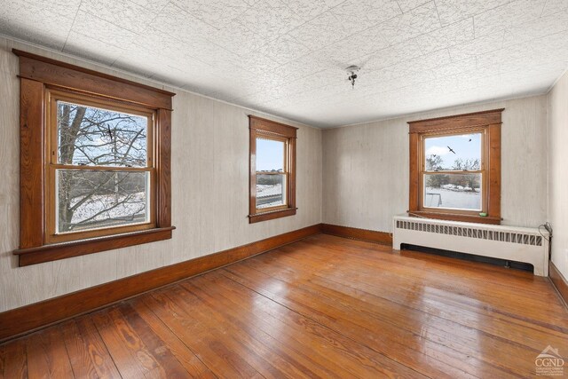
[[[449, 185], [452, 186], [452, 185]], [[469, 188], [431, 188], [426, 187], [424, 206], [430, 208], [470, 209], [481, 211], [481, 193]]]

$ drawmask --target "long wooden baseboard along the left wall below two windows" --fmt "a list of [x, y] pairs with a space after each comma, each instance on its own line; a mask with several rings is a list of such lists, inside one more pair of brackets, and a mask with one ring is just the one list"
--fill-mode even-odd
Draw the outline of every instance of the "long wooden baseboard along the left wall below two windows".
[[321, 233], [321, 225], [312, 225], [209, 256], [141, 272], [96, 287], [2, 312], [0, 313], [0, 343], [319, 233]]

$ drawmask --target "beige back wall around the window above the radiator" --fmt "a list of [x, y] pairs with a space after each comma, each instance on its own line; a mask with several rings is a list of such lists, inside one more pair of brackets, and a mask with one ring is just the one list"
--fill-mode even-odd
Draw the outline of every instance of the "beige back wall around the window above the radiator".
[[[454, 107], [323, 132], [324, 223], [392, 232], [392, 217], [408, 209], [406, 122], [505, 108], [501, 215], [504, 225], [547, 220], [547, 97]], [[566, 162], [566, 160], [564, 160]]]

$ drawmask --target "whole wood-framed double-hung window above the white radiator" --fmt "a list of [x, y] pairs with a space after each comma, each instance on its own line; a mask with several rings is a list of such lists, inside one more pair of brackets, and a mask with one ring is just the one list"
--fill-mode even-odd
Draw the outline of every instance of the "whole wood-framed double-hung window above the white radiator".
[[501, 112], [408, 122], [414, 216], [501, 222]]

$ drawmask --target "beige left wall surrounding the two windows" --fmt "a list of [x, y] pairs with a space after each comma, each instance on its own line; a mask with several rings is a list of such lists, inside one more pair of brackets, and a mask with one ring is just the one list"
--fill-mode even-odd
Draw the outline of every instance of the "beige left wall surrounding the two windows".
[[177, 92], [173, 239], [17, 267], [12, 249], [19, 239], [19, 85], [12, 47], [136, 80], [0, 38], [0, 312], [321, 222], [321, 130], [289, 122], [300, 127], [297, 215], [249, 225], [247, 114], [263, 114], [165, 88]]

